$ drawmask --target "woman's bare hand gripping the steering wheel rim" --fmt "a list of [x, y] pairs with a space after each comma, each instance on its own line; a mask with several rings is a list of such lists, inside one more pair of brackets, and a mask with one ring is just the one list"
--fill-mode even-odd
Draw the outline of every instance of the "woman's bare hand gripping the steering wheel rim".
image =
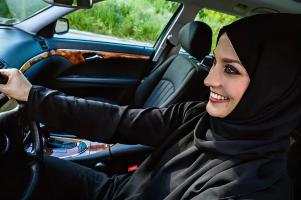
[[0, 69], [0, 71], [9, 76], [7, 84], [0, 84], [0, 91], [6, 94], [10, 99], [15, 98], [21, 101], [27, 101], [29, 91], [33, 86], [23, 73], [16, 69]]

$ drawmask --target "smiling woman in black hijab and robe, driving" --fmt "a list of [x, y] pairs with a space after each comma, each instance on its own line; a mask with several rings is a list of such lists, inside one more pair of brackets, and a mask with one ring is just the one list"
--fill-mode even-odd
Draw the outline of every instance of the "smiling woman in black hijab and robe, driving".
[[35, 197], [291, 199], [286, 154], [301, 110], [300, 20], [258, 14], [222, 28], [204, 81], [212, 91], [207, 104], [120, 107], [32, 86], [20, 71], [1, 70], [9, 82], [0, 90], [28, 101], [33, 120], [89, 140], [158, 147], [133, 175], [113, 177], [45, 156]]

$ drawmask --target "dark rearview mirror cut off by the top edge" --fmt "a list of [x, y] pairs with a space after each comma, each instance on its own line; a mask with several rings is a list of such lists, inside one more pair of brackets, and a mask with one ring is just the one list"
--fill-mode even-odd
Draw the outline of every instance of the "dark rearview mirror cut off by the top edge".
[[93, 6], [93, 0], [43, 0], [49, 4], [72, 7], [72, 8], [91, 8]]

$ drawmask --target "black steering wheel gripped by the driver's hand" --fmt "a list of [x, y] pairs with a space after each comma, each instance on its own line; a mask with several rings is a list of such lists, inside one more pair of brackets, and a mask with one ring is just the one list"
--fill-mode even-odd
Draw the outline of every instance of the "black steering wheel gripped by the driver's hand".
[[[1, 74], [0, 76], [3, 75], [4, 74]], [[3, 81], [1, 77], [0, 80], [2, 80], [0, 83], [7, 83], [7, 81]], [[30, 127], [32, 135], [31, 152], [26, 152], [23, 145], [24, 131], [27, 124]], [[21, 199], [29, 198], [37, 186], [41, 170], [41, 163], [43, 161], [43, 140], [41, 134], [39, 134], [37, 122], [28, 119], [26, 102], [18, 101], [16, 108], [10, 111], [0, 112], [0, 160], [0, 168], [4, 173], [13, 167], [30, 171], [26, 187], [24, 191], [20, 193]], [[10, 178], [9, 181], [11, 181], [11, 179], [13, 178]], [[12, 180], [12, 183], [8, 183], [8, 188], [2, 189], [0, 192], [1, 196], [4, 196], [3, 193], [13, 195], [14, 193], [11, 193], [12, 191], [9, 190], [12, 189], [11, 184], [16, 185], [17, 181], [22, 180]], [[8, 197], [11, 198], [11, 196]]]

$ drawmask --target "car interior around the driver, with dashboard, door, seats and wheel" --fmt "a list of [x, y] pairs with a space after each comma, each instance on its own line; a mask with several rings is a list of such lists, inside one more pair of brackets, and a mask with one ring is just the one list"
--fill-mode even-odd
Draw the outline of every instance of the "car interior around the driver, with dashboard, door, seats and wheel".
[[[103, 1], [110, 0], [94, 0], [93, 6]], [[33, 85], [121, 106], [167, 107], [178, 102], [207, 101], [210, 91], [203, 81], [212, 65], [213, 31], [218, 30], [205, 22], [194, 21], [200, 10], [206, 8], [237, 17], [274, 12], [301, 13], [301, 0], [176, 2], [176, 11], [151, 45], [72, 30], [69, 28], [72, 24], [64, 16], [81, 10], [72, 6], [49, 4], [21, 21], [15, 20], [16, 23], [9, 19], [2, 22], [0, 17], [0, 68], [21, 70]], [[12, 198], [27, 199], [30, 196], [37, 183], [35, 174], [43, 154], [108, 174], [124, 174], [133, 173], [154, 150], [140, 144], [89, 141], [72, 132], [30, 121], [25, 114], [26, 104], [9, 100], [3, 93], [0, 94], [0, 110], [3, 119], [0, 120], [0, 159], [9, 160], [3, 162], [2, 168], [6, 170], [2, 174], [17, 177], [26, 173], [30, 179], [14, 181], [14, 186], [8, 184], [6, 192], [11, 193]], [[301, 124], [290, 136], [288, 172], [294, 199], [301, 199], [298, 191]], [[26, 172], [25, 167], [21, 167], [24, 164], [20, 163], [30, 165], [30, 172]], [[12, 172], [7, 172], [8, 167]], [[13, 168], [18, 168], [18, 172]], [[15, 192], [17, 190], [20, 192]]]

